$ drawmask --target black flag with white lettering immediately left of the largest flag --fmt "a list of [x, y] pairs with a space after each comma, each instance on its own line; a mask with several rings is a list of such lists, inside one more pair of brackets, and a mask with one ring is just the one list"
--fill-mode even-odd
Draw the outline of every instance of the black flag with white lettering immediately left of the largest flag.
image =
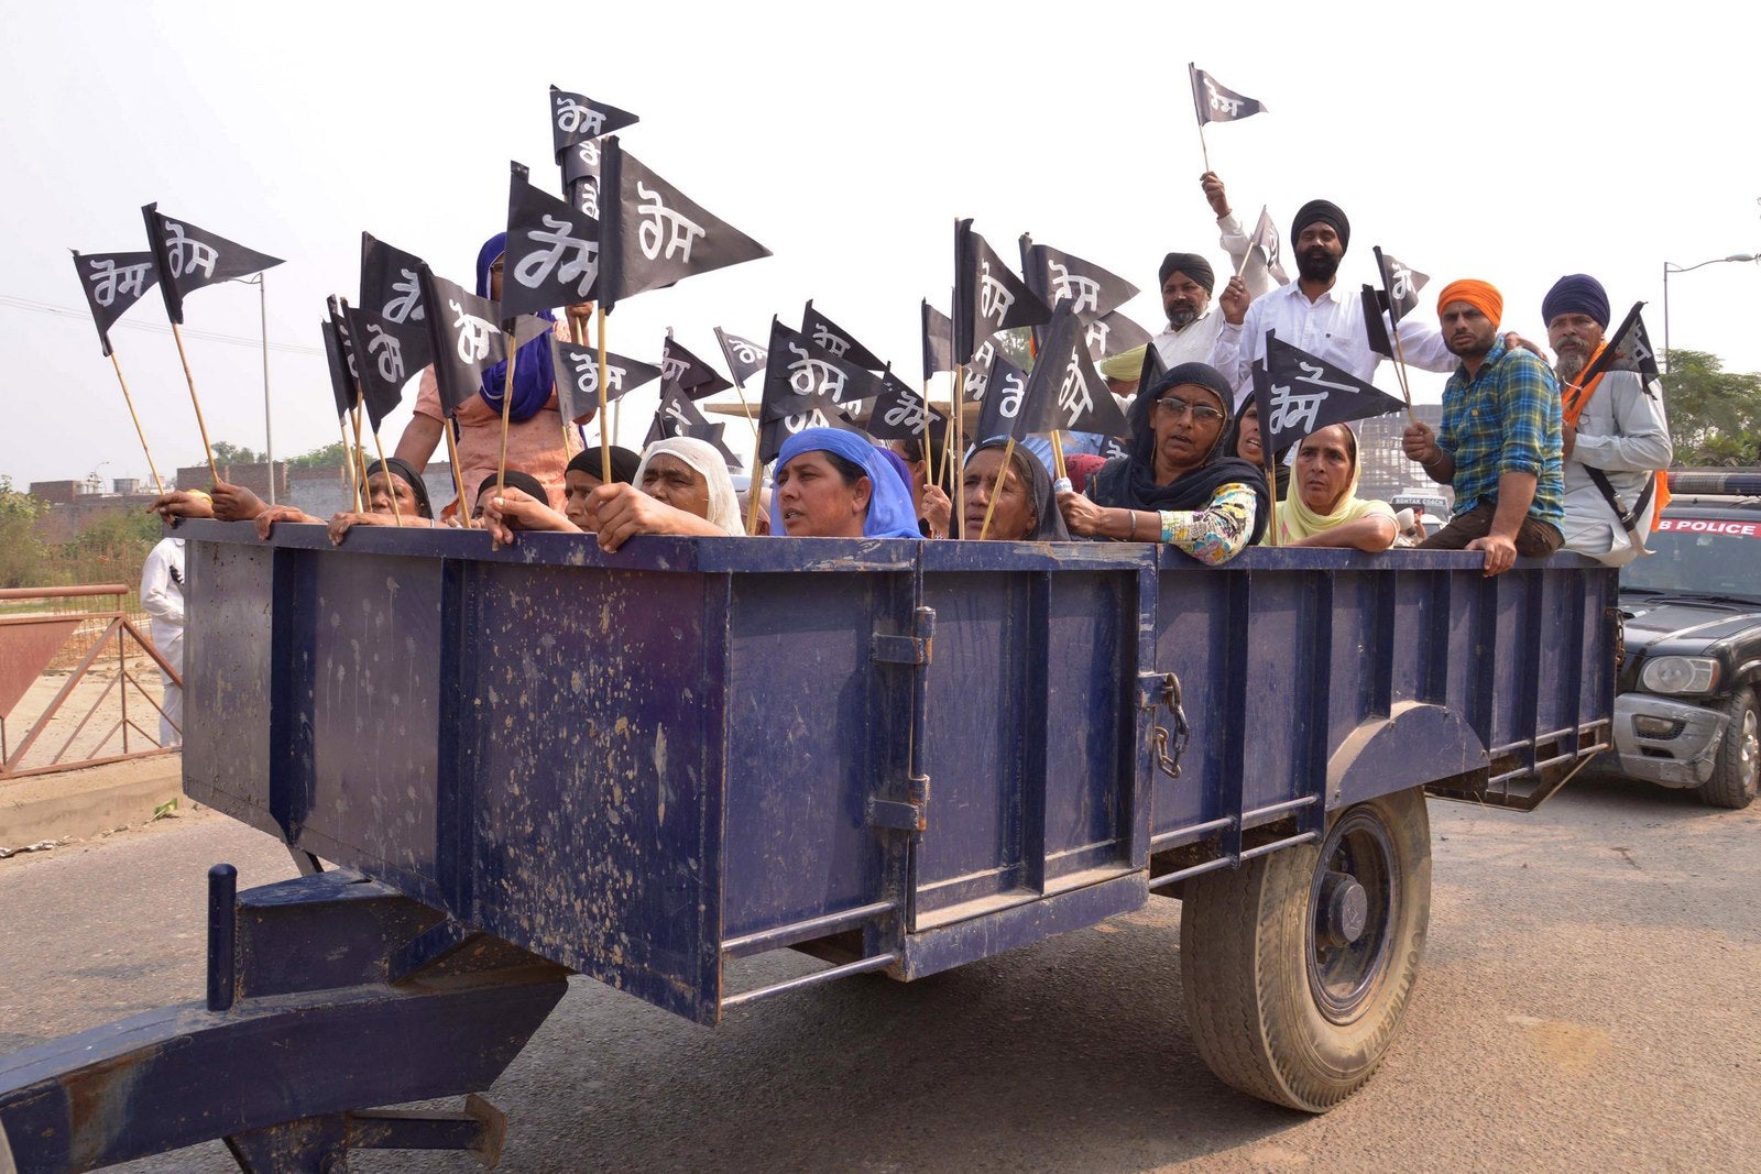
[[502, 313], [518, 317], [595, 296], [599, 222], [541, 192], [512, 164], [507, 183], [507, 257]]

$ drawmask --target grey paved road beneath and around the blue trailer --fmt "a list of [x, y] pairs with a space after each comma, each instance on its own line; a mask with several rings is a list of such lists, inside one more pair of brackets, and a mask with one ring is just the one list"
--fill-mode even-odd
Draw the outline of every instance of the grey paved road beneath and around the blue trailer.
[[[1405, 1031], [1324, 1118], [1201, 1065], [1180, 906], [1155, 901], [713, 1031], [576, 980], [490, 1093], [511, 1118], [502, 1169], [1761, 1170], [1761, 804], [1574, 785], [1537, 815], [1432, 804], [1432, 820], [1430, 952]], [[291, 875], [278, 845], [211, 813], [0, 862], [0, 1051], [199, 998], [217, 859], [243, 884]], [[231, 1165], [203, 1148], [127, 1169]]]

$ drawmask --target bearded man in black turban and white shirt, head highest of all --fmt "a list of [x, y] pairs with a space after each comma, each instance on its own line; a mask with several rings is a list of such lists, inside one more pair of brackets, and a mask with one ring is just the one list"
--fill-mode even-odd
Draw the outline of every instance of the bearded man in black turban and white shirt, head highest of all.
[[[1349, 243], [1345, 211], [1331, 201], [1308, 201], [1291, 218], [1296, 280], [1257, 297], [1240, 280], [1224, 289], [1217, 299], [1224, 322], [1210, 364], [1234, 385], [1236, 401], [1249, 394], [1254, 359], [1266, 354], [1266, 331], [1361, 380], [1375, 377], [1382, 356], [1370, 350], [1363, 299], [1356, 289], [1335, 289], [1338, 262]], [[1453, 371], [1455, 357], [1442, 334], [1421, 317], [1400, 320], [1402, 356], [1409, 366], [1425, 371]]]

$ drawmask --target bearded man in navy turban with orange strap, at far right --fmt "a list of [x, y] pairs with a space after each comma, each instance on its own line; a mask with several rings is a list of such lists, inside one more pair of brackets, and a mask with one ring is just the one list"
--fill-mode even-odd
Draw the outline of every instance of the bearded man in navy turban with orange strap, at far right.
[[1562, 387], [1566, 549], [1622, 567], [1645, 549], [1668, 500], [1662, 470], [1675, 447], [1662, 393], [1638, 371], [1578, 378], [1608, 347], [1608, 292], [1587, 273], [1562, 276], [1541, 299], [1553, 371]]

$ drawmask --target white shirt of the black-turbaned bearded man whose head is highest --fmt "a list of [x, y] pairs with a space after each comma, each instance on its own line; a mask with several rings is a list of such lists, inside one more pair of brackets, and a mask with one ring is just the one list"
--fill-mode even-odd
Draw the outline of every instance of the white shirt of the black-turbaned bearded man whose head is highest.
[[[1400, 320], [1400, 352], [1407, 366], [1423, 371], [1455, 371], [1460, 359], [1449, 354], [1435, 326], [1425, 326], [1418, 319], [1419, 312], [1414, 310]], [[1382, 322], [1388, 322], [1386, 313]], [[1254, 359], [1266, 357], [1266, 331], [1365, 382], [1375, 378], [1375, 368], [1382, 361], [1382, 356], [1370, 350], [1359, 290], [1344, 292], [1335, 283], [1321, 297], [1308, 301], [1301, 283], [1291, 282], [1256, 297], [1242, 326], [1224, 322], [1217, 329], [1210, 364], [1234, 385], [1236, 405], [1252, 391]]]

